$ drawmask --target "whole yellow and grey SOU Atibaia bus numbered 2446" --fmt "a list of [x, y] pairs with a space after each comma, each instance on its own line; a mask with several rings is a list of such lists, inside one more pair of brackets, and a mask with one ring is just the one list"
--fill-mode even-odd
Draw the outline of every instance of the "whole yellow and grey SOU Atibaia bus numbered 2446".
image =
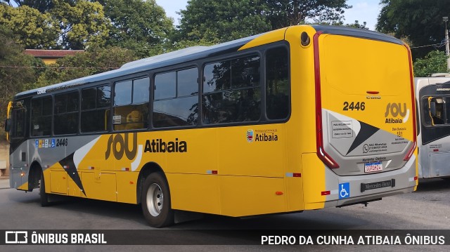
[[15, 95], [11, 187], [234, 217], [367, 204], [417, 186], [411, 52], [300, 25]]

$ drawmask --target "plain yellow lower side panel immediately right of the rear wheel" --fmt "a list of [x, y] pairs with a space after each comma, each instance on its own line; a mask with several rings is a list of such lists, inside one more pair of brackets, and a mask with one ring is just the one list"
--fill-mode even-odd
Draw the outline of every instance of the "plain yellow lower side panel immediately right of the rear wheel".
[[219, 176], [166, 173], [172, 208], [220, 214]]

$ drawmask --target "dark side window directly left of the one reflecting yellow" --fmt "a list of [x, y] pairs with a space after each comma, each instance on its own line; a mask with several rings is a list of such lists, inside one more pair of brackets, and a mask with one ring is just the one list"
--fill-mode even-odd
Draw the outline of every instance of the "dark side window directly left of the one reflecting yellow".
[[82, 132], [109, 130], [110, 100], [110, 85], [82, 90], [82, 119], [80, 127]]

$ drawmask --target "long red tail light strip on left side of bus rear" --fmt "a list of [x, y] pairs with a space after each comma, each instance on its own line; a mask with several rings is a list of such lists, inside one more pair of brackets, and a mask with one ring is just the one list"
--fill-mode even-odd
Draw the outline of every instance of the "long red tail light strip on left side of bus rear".
[[321, 69], [319, 63], [319, 36], [322, 32], [314, 34], [314, 73], [316, 80], [316, 147], [317, 157], [329, 168], [339, 168], [339, 164], [328, 155], [323, 148], [322, 127], [322, 99], [321, 99]]

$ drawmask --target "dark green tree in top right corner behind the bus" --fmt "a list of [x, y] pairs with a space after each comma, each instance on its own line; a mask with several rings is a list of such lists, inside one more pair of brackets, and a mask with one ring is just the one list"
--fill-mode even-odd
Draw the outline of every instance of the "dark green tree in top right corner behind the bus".
[[[381, 0], [376, 29], [392, 32], [395, 37], [408, 37], [413, 46], [440, 44], [444, 40], [442, 17], [450, 15], [446, 0]], [[444, 48], [444, 47], [442, 47]], [[414, 58], [423, 58], [435, 50], [432, 46], [412, 48]]]

